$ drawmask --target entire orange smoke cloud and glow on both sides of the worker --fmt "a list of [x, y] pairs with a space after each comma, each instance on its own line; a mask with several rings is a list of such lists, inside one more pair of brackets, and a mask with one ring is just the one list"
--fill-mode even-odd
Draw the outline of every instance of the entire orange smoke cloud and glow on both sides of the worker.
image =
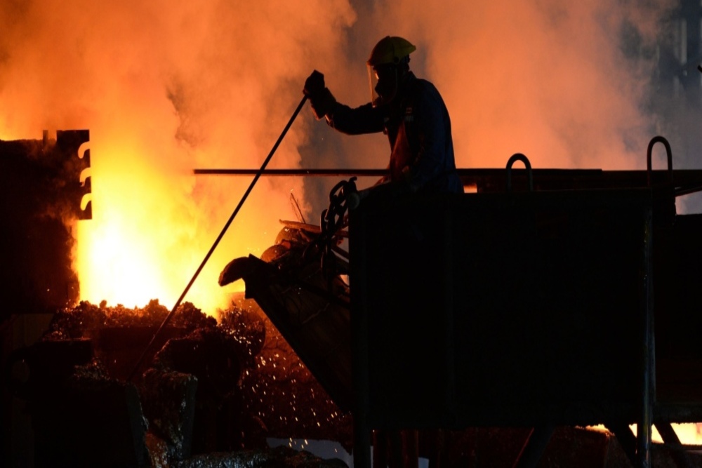
[[[0, 138], [89, 128], [94, 219], [79, 228], [85, 297], [119, 302], [139, 291], [140, 302], [169, 304], [250, 182], [196, 178], [192, 169], [258, 168], [312, 69], [338, 100], [361, 105], [369, 51], [401, 35], [418, 47], [413, 71], [449, 107], [459, 167], [503, 167], [522, 152], [535, 168], [642, 168], [656, 128], [643, 110], [655, 60], [631, 51], [654, 48], [670, 7], [6, 1]], [[270, 167], [383, 168], [388, 153], [384, 135], [334, 133], [305, 108]], [[262, 178], [187, 300], [223, 305], [223, 265], [270, 246], [278, 220], [294, 217], [291, 191], [316, 222], [334, 183]]]

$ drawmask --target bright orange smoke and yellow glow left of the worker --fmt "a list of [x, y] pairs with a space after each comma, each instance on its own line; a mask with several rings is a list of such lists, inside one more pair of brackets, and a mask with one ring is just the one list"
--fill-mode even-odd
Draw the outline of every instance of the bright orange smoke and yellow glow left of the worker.
[[[175, 302], [251, 182], [192, 170], [258, 168], [354, 19], [345, 0], [0, 4], [0, 138], [91, 131], [82, 297]], [[297, 166], [306, 132], [300, 119], [271, 167]], [[291, 190], [304, 200], [301, 180], [258, 182], [186, 300], [226, 305], [220, 270], [273, 243]]]

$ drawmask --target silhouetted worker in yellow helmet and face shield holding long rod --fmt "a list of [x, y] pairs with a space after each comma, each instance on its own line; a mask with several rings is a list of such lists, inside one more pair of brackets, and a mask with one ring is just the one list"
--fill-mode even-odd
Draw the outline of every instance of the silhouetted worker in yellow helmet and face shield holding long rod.
[[409, 69], [416, 51], [406, 39], [386, 36], [366, 62], [371, 102], [352, 109], [337, 102], [314, 70], [303, 92], [317, 120], [347, 135], [383, 132], [390, 141], [388, 175], [379, 182], [398, 182], [409, 192], [463, 192], [456, 172], [451, 120], [437, 88]]

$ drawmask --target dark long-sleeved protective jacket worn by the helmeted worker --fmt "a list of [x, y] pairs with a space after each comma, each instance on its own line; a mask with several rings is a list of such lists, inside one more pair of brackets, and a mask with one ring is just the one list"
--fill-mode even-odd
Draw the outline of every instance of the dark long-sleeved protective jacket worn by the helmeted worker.
[[387, 105], [373, 107], [369, 102], [352, 109], [335, 102], [326, 121], [348, 135], [388, 135], [390, 180], [408, 183], [412, 192], [463, 192], [444, 100], [432, 83], [412, 72]]

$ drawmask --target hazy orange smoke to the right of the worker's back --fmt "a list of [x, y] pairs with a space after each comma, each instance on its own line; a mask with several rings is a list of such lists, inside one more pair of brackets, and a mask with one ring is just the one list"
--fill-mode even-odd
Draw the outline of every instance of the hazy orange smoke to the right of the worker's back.
[[460, 167], [504, 167], [522, 152], [535, 168], [635, 169], [656, 129], [650, 50], [672, 6], [377, 1], [363, 45], [385, 34], [416, 44], [411, 68], [449, 107]]

